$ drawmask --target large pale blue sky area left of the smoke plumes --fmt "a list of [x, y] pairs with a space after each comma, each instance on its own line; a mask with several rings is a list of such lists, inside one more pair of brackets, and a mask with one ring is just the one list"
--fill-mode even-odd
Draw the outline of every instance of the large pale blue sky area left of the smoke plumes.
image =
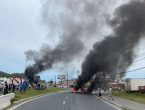
[[23, 72], [24, 52], [46, 40], [39, 0], [0, 0], [0, 70]]

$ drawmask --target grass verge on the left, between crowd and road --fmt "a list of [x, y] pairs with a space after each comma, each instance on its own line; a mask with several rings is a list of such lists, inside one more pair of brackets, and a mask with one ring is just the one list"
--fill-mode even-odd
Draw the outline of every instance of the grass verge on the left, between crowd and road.
[[11, 102], [15, 102], [15, 101], [19, 101], [21, 99], [25, 99], [25, 98], [29, 98], [29, 97], [33, 97], [33, 96], [37, 96], [37, 95], [41, 95], [41, 94], [48, 94], [48, 93], [52, 93], [52, 92], [58, 92], [58, 91], [63, 91], [64, 89], [62, 88], [47, 88], [44, 90], [35, 90], [35, 89], [30, 89], [27, 90], [25, 94], [18, 92], [15, 94], [15, 98], [11, 100]]

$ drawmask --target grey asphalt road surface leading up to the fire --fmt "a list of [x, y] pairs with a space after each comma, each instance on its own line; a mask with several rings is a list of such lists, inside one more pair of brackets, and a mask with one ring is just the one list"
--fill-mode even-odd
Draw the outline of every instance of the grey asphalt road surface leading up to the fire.
[[13, 110], [117, 110], [90, 94], [68, 92], [47, 95]]

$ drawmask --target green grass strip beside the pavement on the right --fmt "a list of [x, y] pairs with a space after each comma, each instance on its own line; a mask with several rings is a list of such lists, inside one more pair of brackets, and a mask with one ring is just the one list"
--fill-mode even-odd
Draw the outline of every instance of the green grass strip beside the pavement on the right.
[[127, 93], [127, 92], [115, 91], [113, 95], [145, 104], [145, 93], [140, 93], [140, 92]]

